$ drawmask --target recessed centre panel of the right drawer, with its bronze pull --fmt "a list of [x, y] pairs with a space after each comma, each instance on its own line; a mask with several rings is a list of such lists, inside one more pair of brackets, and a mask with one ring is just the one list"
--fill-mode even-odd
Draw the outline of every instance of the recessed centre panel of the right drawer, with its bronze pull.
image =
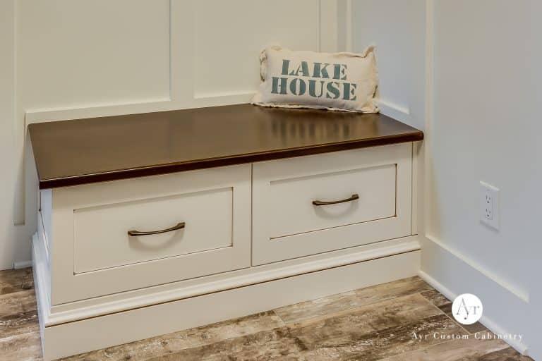
[[395, 164], [271, 181], [271, 238], [395, 216]]

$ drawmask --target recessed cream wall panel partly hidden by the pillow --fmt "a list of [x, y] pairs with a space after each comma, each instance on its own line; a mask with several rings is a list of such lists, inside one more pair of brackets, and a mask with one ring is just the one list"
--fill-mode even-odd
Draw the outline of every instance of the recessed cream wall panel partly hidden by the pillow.
[[318, 16], [313, 0], [195, 1], [194, 97], [253, 93], [260, 84], [259, 52], [274, 44], [317, 50]]

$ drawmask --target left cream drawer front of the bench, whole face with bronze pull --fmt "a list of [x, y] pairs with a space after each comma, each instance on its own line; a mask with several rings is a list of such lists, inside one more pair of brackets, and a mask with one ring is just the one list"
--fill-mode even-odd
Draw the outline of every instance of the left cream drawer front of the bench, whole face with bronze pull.
[[52, 305], [250, 267], [250, 201], [250, 165], [54, 189]]

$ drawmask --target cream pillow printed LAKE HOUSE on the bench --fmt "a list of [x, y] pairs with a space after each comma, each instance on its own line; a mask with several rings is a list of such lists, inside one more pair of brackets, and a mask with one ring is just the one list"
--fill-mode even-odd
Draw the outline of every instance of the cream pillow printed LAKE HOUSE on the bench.
[[260, 54], [263, 80], [252, 104], [377, 113], [375, 48], [361, 54], [269, 47]]

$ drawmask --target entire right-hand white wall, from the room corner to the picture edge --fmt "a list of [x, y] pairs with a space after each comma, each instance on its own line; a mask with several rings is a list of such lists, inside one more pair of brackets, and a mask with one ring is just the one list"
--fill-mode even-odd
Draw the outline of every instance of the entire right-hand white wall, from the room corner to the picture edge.
[[[536, 347], [541, 2], [352, 2], [354, 51], [378, 47], [380, 97], [426, 132], [421, 275], [449, 297], [479, 295], [486, 326]], [[501, 190], [500, 231], [479, 222], [479, 181]]]

